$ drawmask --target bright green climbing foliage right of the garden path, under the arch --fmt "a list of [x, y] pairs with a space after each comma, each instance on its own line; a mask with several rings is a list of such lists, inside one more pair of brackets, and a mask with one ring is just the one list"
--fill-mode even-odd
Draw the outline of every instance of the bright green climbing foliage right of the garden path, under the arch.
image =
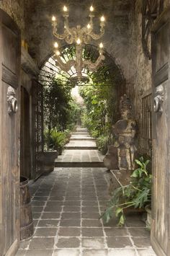
[[118, 76], [120, 74], [110, 72], [110, 67], [104, 65], [91, 74], [89, 85], [79, 89], [86, 105], [82, 123], [95, 137], [109, 134], [112, 124], [117, 120], [115, 82], [118, 83]]

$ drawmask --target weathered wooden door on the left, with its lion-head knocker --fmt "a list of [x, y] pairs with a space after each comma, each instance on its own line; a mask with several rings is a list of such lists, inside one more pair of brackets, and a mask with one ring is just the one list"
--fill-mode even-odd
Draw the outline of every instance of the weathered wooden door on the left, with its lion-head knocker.
[[1, 9], [0, 48], [0, 255], [15, 255], [19, 244], [20, 34]]

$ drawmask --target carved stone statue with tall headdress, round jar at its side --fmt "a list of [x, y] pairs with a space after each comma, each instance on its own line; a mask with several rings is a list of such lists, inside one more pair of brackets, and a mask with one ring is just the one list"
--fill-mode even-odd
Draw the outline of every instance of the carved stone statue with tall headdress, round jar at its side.
[[133, 119], [132, 103], [126, 94], [120, 100], [120, 114], [122, 119], [112, 126], [115, 144], [109, 146], [104, 157], [104, 165], [108, 169], [133, 170], [135, 169], [136, 122]]

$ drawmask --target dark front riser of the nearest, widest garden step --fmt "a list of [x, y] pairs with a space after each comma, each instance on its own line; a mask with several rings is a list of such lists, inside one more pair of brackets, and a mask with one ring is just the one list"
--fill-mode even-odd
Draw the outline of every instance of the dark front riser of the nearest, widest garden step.
[[103, 162], [55, 162], [55, 167], [104, 167]]

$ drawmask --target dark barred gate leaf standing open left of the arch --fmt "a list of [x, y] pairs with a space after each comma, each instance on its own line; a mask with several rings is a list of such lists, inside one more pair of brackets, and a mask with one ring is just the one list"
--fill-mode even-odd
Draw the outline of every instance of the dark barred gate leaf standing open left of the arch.
[[43, 151], [43, 86], [38, 81], [32, 81], [32, 135], [33, 135], [33, 177], [41, 175], [42, 164], [37, 161]]

